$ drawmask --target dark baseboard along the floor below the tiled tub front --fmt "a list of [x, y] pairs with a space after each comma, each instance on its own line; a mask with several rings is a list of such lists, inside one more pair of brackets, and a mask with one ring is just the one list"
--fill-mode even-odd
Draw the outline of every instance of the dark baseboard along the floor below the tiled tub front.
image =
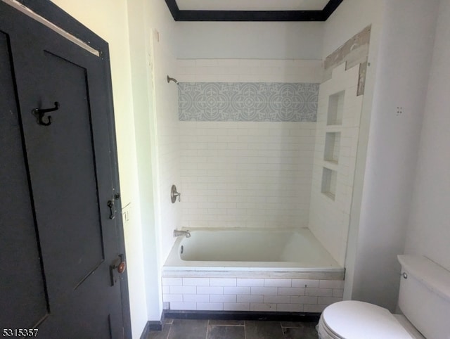
[[247, 312], [247, 311], [178, 311], [165, 309], [169, 319], [214, 319], [214, 320], [272, 320], [319, 322], [320, 313], [298, 312]]

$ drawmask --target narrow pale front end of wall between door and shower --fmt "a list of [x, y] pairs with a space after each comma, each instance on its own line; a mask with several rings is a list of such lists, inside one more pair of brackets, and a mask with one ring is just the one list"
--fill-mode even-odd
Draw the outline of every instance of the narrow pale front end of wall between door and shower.
[[[139, 181], [139, 198], [141, 207], [141, 225], [143, 245], [143, 262], [146, 286], [146, 307], [148, 319], [159, 319], [162, 310], [160, 298], [160, 277], [158, 271], [159, 238], [155, 224], [155, 206], [157, 200], [153, 191], [157, 183], [158, 172], [155, 161], [156, 134], [152, 128], [155, 112], [153, 110], [153, 79], [149, 67], [150, 27], [146, 1], [127, 2], [129, 20], [129, 44], [131, 56], [131, 84], [133, 89], [134, 120], [136, 134], [137, 169]], [[146, 72], [143, 72], [146, 70]]]

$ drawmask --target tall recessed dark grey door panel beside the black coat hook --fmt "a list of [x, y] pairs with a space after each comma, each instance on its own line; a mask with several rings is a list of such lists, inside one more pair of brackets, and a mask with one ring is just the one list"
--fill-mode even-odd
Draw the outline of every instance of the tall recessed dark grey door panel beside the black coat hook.
[[42, 102], [58, 101], [60, 108], [49, 113], [49, 126], [30, 117], [26, 141], [33, 191], [46, 197], [37, 201], [37, 218], [45, 263], [58, 267], [51, 270], [50, 287], [59, 294], [77, 288], [103, 262], [103, 240], [86, 70], [50, 53], [41, 70]]

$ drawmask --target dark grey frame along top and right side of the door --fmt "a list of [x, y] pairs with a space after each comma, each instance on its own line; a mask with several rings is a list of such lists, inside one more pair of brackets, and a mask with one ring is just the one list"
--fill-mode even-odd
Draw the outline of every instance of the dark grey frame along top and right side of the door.
[[[1, 1], [1, 0], [0, 0]], [[72, 18], [68, 13], [61, 8], [53, 4], [50, 0], [15, 0], [23, 6], [29, 8], [31, 11], [40, 15], [42, 18], [49, 20], [50, 23], [60, 27], [60, 29], [68, 32], [72, 36], [84, 42], [84, 44], [96, 49], [100, 56], [101, 63], [103, 65], [103, 72], [105, 77], [105, 94], [108, 110], [108, 139], [110, 146], [110, 165], [111, 174], [113, 179], [113, 188], [115, 192], [120, 192], [119, 183], [119, 167], [117, 160], [117, 141], [115, 134], [115, 120], [114, 120], [114, 106], [113, 106], [113, 86], [111, 79], [110, 68], [110, 52], [108, 42], [103, 40], [97, 34], [89, 30], [88, 27], [79, 23], [75, 18]], [[6, 2], [6, 4], [8, 4]], [[122, 210], [122, 203], [119, 200], [115, 201], [115, 207], [117, 212]], [[122, 217], [115, 218], [115, 226], [117, 229], [117, 250], [120, 253], [125, 254], [125, 241], [124, 241], [124, 227]], [[124, 260], [126, 260], [124, 258]], [[131, 338], [131, 316], [129, 306], [129, 290], [128, 290], [128, 276], [127, 271], [120, 275], [120, 293], [122, 298], [122, 318], [124, 326], [124, 337]]]

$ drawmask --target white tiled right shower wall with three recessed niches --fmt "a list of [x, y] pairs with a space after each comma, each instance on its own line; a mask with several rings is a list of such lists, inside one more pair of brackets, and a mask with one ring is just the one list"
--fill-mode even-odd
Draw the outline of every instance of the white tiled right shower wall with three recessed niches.
[[[354, 41], [355, 38], [350, 39], [345, 44], [346, 48]], [[340, 49], [330, 56], [326, 70], [328, 76], [319, 89], [314, 186], [308, 225], [342, 267], [345, 266], [349, 216], [352, 213], [356, 150], [364, 98], [356, 89], [359, 89], [360, 79], [365, 74], [366, 68], [360, 63], [366, 62], [368, 44], [364, 43], [364, 48], [359, 52], [352, 51], [352, 55], [342, 61], [342, 54], [348, 53], [345, 51]]]

